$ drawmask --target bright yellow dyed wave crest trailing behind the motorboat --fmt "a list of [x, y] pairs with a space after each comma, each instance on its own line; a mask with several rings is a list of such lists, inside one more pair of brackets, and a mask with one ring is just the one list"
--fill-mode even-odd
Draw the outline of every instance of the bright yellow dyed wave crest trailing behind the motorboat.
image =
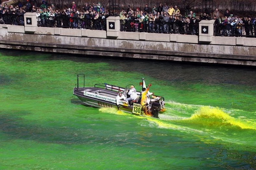
[[218, 107], [202, 106], [197, 112], [195, 112], [188, 120], [195, 119], [206, 119], [206, 121], [212, 121], [216, 124], [231, 124], [238, 126], [241, 129], [254, 129], [256, 127], [249, 125], [248, 122], [241, 122], [240, 120], [229, 116], [227, 113], [223, 112]]

